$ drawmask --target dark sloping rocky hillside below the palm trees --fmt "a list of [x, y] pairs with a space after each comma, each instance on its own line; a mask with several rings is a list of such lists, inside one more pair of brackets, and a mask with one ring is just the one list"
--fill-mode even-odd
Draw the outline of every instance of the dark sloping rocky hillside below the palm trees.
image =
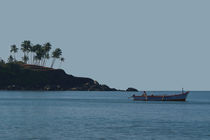
[[1, 90], [79, 90], [115, 91], [84, 77], [68, 75], [64, 70], [34, 65], [0, 65]]

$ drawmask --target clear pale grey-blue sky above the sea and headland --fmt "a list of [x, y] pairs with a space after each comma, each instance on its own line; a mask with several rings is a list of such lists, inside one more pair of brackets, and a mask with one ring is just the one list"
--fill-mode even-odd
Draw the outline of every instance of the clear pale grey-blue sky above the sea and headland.
[[10, 45], [24, 40], [50, 42], [63, 50], [68, 74], [110, 87], [210, 90], [209, 5], [209, 0], [2, 0], [0, 57], [6, 60]]

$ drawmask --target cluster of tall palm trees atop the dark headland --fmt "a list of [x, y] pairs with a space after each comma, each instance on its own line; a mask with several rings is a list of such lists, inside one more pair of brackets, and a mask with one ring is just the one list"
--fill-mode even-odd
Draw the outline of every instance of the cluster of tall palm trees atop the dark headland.
[[25, 64], [46, 66], [47, 61], [52, 58], [51, 68], [53, 68], [57, 59], [60, 60], [61, 65], [61, 63], [64, 62], [62, 50], [60, 48], [56, 48], [50, 52], [52, 49], [51, 47], [52, 45], [49, 42], [43, 45], [33, 45], [31, 41], [25, 40], [21, 43], [20, 49], [15, 44], [10, 46], [10, 52], [12, 54], [9, 56], [8, 62], [17, 62], [16, 54], [19, 50], [21, 50], [23, 52], [23, 56], [21, 58]]

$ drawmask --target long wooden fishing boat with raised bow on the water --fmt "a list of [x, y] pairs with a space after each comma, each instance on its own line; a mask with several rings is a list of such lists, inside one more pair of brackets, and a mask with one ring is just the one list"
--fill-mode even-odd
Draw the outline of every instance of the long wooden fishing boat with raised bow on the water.
[[141, 96], [132, 96], [134, 101], [186, 101], [189, 91], [174, 95], [147, 95], [146, 91]]

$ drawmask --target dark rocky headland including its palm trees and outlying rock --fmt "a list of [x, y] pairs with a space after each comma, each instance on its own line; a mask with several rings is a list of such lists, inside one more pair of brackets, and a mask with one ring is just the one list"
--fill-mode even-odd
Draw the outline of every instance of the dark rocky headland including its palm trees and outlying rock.
[[[11, 55], [7, 62], [0, 60], [0, 90], [118, 91], [91, 78], [75, 77], [60, 68], [53, 68], [56, 60], [60, 61], [61, 66], [65, 59], [60, 48], [50, 53], [49, 42], [32, 45], [26, 40], [22, 42], [20, 50], [23, 52], [22, 60], [16, 58], [19, 51], [16, 45], [11, 45]], [[47, 67], [50, 58], [52, 62]], [[127, 91], [138, 90], [128, 88]]]

